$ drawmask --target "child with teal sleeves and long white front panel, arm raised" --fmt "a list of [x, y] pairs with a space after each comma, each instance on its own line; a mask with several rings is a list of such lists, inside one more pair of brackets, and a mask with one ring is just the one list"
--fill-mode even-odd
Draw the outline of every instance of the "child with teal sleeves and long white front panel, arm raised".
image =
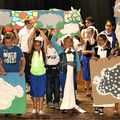
[[57, 50], [60, 56], [60, 82], [62, 86], [62, 103], [60, 109], [63, 113], [67, 109], [77, 109], [79, 112], [85, 112], [80, 109], [75, 103], [75, 88], [74, 79], [77, 72], [77, 80], [79, 79], [80, 63], [79, 57], [75, 49], [73, 48], [73, 38], [67, 36], [64, 38], [64, 48], [56, 43], [57, 30], [53, 31], [52, 44]]

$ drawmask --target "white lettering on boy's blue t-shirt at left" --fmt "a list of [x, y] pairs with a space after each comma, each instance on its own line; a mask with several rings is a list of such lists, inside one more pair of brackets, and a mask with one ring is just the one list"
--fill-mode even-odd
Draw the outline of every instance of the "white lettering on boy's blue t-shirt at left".
[[16, 63], [16, 58], [17, 58], [17, 53], [16, 52], [4, 51], [3, 57], [4, 57], [4, 63], [15, 64]]

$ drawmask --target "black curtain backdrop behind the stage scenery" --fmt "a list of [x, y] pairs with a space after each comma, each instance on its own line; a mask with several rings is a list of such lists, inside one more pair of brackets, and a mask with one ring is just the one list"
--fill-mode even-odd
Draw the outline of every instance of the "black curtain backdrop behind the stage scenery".
[[114, 20], [113, 6], [115, 0], [0, 0], [1, 9], [12, 10], [48, 10], [58, 8], [70, 10], [81, 8], [83, 20], [87, 16], [93, 16], [96, 28], [101, 31], [107, 19]]

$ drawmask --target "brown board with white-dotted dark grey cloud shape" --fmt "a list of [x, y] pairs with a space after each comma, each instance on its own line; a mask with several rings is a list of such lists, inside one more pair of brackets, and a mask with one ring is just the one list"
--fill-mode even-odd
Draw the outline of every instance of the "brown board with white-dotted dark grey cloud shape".
[[90, 71], [93, 103], [108, 105], [120, 102], [120, 57], [91, 59]]

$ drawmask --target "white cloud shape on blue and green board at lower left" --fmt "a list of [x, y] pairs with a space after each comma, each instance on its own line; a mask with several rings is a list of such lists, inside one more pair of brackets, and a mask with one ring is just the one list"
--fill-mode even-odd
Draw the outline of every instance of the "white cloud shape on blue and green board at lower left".
[[21, 98], [23, 95], [24, 91], [20, 85], [13, 87], [0, 78], [0, 110], [10, 108], [15, 97]]

